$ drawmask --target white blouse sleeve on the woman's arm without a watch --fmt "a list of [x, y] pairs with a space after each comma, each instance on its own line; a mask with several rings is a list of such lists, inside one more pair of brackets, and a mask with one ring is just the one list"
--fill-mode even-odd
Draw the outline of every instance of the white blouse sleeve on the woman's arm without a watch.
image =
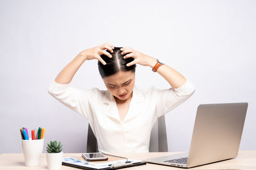
[[53, 80], [47, 91], [52, 97], [85, 118], [90, 115], [89, 99], [95, 96], [95, 89], [77, 89], [70, 83], [60, 84]]

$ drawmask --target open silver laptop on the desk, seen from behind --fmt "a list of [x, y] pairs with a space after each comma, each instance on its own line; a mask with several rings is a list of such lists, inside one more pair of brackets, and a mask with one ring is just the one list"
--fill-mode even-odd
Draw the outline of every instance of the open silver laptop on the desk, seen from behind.
[[145, 161], [189, 168], [235, 158], [247, 108], [248, 103], [200, 104], [189, 152]]

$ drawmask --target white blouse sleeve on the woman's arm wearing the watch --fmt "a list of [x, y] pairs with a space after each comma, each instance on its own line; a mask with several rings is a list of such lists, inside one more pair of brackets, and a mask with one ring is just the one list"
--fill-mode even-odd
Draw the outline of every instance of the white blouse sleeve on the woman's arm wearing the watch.
[[155, 90], [157, 98], [156, 113], [157, 117], [161, 117], [191, 97], [195, 92], [195, 87], [189, 80], [187, 80], [184, 85], [175, 89], [155, 88]]

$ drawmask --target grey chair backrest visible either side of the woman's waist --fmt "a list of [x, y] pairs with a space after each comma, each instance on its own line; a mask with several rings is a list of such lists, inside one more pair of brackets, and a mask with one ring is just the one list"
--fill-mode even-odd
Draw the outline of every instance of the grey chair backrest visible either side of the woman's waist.
[[[88, 124], [86, 152], [99, 152], [97, 139], [90, 124]], [[159, 117], [150, 134], [149, 152], [168, 152], [166, 125], [164, 115]]]

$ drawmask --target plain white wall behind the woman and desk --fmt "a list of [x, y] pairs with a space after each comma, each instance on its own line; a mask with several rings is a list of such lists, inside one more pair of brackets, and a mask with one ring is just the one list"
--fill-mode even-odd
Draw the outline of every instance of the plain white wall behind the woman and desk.
[[[20, 127], [45, 127], [45, 145], [85, 152], [88, 122], [47, 93], [61, 69], [86, 48], [109, 42], [156, 57], [195, 84], [166, 115], [169, 151], [189, 150], [201, 103], [248, 102], [242, 150], [255, 147], [256, 1], [0, 1], [0, 153], [21, 152]], [[74, 87], [106, 89], [97, 61]], [[136, 85], [168, 88], [149, 67]], [[45, 152], [45, 149], [44, 149]]]

